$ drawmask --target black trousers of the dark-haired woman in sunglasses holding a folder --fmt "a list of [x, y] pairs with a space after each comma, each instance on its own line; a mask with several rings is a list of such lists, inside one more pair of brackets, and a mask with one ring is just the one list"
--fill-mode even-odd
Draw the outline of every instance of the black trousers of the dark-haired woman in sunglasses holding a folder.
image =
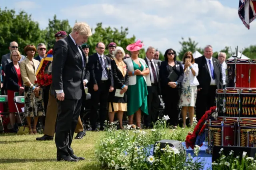
[[164, 115], [169, 116], [170, 119], [167, 121], [167, 124], [170, 126], [178, 126], [180, 95], [181, 88], [165, 87], [164, 90], [162, 90]]

